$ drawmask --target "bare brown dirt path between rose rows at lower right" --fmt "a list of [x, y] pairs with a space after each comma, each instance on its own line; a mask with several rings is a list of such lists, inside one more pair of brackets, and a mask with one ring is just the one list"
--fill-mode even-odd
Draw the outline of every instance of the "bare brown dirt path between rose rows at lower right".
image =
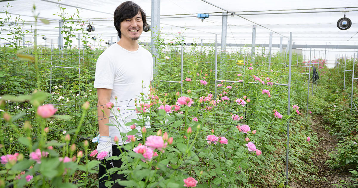
[[[324, 124], [319, 118], [312, 121], [311, 129], [317, 134], [319, 141], [319, 148], [317, 152], [312, 156], [313, 165], [318, 168], [318, 171], [311, 174], [313, 177], [317, 177], [312, 182], [294, 182], [291, 187], [298, 188], [349, 188], [343, 185], [341, 182], [348, 182], [351, 176], [349, 172], [342, 172], [339, 169], [330, 168], [325, 162], [330, 159], [329, 153], [337, 146], [337, 139], [330, 135], [327, 130], [324, 129]], [[334, 185], [337, 184], [337, 185]]]

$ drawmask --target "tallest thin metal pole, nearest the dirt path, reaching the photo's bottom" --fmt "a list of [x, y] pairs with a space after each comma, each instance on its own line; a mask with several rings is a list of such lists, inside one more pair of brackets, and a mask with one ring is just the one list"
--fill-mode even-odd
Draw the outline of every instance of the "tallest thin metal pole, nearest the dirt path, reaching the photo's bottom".
[[[290, 32], [289, 42], [289, 86], [287, 100], [287, 115], [290, 115], [290, 95], [291, 95], [291, 61], [292, 61], [292, 32]], [[289, 184], [289, 139], [290, 139], [290, 119], [287, 119], [287, 149], [286, 149], [286, 185]]]

